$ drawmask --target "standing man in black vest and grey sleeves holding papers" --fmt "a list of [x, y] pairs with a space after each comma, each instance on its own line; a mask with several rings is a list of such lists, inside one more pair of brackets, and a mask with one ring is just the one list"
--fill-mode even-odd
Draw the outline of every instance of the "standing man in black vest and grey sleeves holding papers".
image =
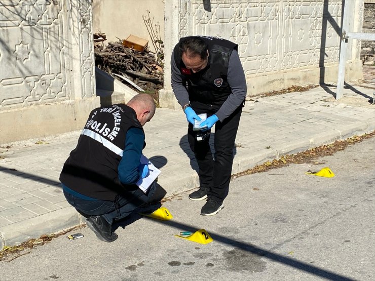
[[[192, 200], [207, 198], [201, 215], [212, 216], [224, 208], [232, 174], [233, 147], [246, 97], [246, 79], [237, 53], [238, 45], [216, 37], [189, 36], [175, 46], [172, 59], [172, 88], [186, 114], [187, 138], [199, 167], [200, 187]], [[207, 113], [194, 131], [197, 114]], [[214, 159], [209, 145], [215, 125]]]

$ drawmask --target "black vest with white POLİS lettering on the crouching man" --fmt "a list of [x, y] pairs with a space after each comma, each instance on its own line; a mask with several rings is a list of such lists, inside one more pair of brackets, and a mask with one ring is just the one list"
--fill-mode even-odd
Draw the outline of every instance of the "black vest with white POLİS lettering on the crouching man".
[[143, 131], [135, 111], [127, 105], [91, 111], [77, 147], [64, 164], [60, 181], [74, 191], [102, 200], [115, 200], [119, 193], [136, 188], [123, 185], [118, 174], [126, 133], [132, 127]]

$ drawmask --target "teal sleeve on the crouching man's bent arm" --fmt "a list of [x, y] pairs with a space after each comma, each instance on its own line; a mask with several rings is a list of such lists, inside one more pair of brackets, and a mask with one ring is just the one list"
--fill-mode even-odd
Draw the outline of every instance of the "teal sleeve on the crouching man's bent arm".
[[125, 149], [119, 164], [119, 180], [123, 184], [135, 184], [140, 174], [138, 166], [142, 155], [144, 133], [139, 128], [130, 128], [126, 133]]

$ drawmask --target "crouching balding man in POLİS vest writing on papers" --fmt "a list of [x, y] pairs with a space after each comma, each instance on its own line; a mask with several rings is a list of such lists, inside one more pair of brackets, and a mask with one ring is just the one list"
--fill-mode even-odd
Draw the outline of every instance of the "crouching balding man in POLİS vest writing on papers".
[[87, 217], [87, 225], [102, 241], [116, 240], [113, 221], [148, 202], [155, 191], [152, 186], [145, 194], [135, 185], [148, 174], [147, 165], [140, 164], [146, 145], [142, 127], [154, 114], [154, 99], [147, 94], [134, 96], [126, 105], [94, 109], [64, 164], [60, 181], [66, 200]]

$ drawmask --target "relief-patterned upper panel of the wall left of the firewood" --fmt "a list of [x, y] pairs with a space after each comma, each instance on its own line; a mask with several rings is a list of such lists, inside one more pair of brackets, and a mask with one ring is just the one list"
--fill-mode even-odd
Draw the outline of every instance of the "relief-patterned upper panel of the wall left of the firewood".
[[[78, 32], [72, 32], [74, 23]], [[88, 0], [1, 1], [0, 108], [91, 97], [91, 26]], [[72, 67], [74, 59], [80, 68]], [[80, 85], [71, 83], [77, 76]]]

